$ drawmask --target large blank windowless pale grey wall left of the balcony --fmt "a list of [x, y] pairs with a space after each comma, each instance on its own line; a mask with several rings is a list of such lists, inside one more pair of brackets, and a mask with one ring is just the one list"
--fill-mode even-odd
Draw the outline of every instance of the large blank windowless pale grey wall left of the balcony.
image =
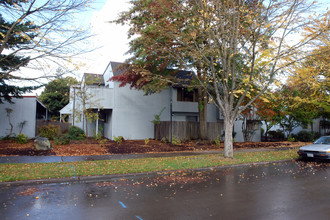
[[143, 91], [118, 87], [115, 83], [115, 107], [112, 112], [112, 137], [123, 136], [125, 139], [154, 138], [154, 115], [159, 114], [161, 121], [170, 120], [170, 90], [145, 96]]

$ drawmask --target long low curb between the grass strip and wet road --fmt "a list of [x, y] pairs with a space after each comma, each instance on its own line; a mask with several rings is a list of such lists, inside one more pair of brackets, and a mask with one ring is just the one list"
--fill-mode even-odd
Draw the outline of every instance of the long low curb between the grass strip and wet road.
[[236, 167], [247, 167], [247, 166], [260, 166], [271, 163], [284, 163], [296, 161], [296, 159], [286, 159], [286, 160], [276, 160], [276, 161], [263, 161], [255, 163], [245, 163], [245, 164], [234, 164], [234, 165], [225, 165], [220, 167], [203, 167], [196, 169], [183, 169], [183, 170], [166, 170], [166, 171], [153, 171], [153, 172], [144, 172], [144, 173], [128, 173], [128, 174], [111, 174], [111, 175], [102, 175], [102, 176], [77, 176], [77, 177], [66, 177], [59, 179], [39, 179], [39, 180], [22, 180], [16, 182], [0, 182], [0, 187], [11, 187], [11, 186], [22, 186], [22, 185], [39, 185], [39, 184], [70, 184], [70, 183], [88, 183], [88, 182], [98, 182], [98, 181], [113, 181], [116, 179], [122, 178], [133, 178], [133, 177], [143, 177], [143, 176], [156, 176], [156, 175], [169, 175], [173, 172], [185, 171], [185, 172], [198, 172], [198, 171], [217, 171], [228, 168]]

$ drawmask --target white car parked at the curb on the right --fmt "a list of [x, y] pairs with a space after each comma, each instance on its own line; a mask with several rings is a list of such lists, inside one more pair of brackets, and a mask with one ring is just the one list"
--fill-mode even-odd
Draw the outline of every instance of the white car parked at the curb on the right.
[[303, 158], [330, 159], [330, 136], [323, 136], [313, 144], [299, 148], [298, 154]]

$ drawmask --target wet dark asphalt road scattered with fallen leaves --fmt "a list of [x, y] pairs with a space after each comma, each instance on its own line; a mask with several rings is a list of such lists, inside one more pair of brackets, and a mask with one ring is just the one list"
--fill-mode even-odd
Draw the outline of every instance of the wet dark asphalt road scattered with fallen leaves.
[[329, 219], [330, 164], [0, 187], [0, 219]]

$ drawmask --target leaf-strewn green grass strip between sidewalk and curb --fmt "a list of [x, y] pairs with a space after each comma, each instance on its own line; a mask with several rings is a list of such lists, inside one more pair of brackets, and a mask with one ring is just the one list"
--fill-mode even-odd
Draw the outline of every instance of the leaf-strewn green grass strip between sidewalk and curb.
[[234, 159], [224, 158], [219, 154], [211, 154], [66, 163], [0, 164], [0, 182], [220, 167], [224, 165], [296, 158], [298, 158], [297, 149], [291, 149], [235, 153]]

